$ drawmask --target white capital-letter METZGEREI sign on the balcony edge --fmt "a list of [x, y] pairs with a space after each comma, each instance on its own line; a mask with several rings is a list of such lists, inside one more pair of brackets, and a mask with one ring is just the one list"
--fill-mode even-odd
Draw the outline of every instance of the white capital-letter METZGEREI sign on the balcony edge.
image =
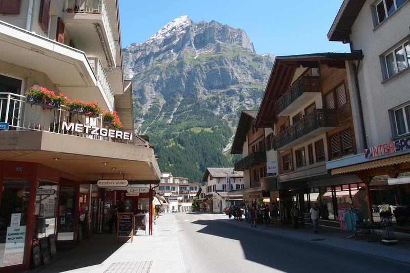
[[99, 128], [91, 125], [84, 125], [81, 123], [67, 123], [63, 121], [61, 124], [61, 130], [77, 132], [77, 133], [86, 133], [94, 136], [104, 136], [112, 138], [120, 138], [125, 140], [132, 140], [132, 134], [128, 132], [122, 132], [118, 130]]

